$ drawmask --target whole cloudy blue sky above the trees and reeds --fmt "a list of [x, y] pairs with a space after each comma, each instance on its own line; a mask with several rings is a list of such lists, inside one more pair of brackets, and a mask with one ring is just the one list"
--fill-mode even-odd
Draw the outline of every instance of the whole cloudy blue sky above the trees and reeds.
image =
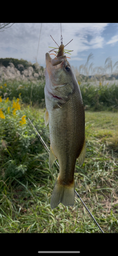
[[60, 46], [61, 29], [63, 45], [73, 39], [65, 49], [74, 51], [66, 56], [78, 70], [90, 53], [89, 65], [92, 63], [93, 68], [104, 68], [107, 57], [111, 58], [112, 66], [118, 61], [118, 23], [15, 23], [0, 30], [0, 58], [22, 58], [35, 63], [37, 56], [39, 65], [45, 67], [45, 53], [51, 50], [49, 47], [58, 47], [50, 35]]

